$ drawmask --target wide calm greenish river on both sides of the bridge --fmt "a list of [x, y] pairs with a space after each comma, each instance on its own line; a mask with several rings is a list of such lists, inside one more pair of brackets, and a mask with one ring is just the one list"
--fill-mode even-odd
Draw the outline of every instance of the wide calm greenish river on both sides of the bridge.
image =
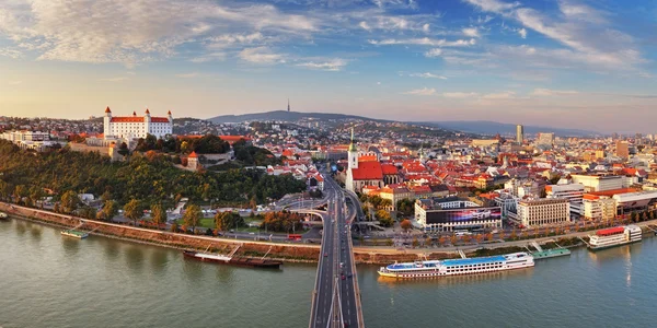
[[[395, 282], [359, 266], [368, 327], [650, 327], [657, 238], [533, 269]], [[315, 267], [268, 271], [0, 221], [0, 327], [308, 327]]]

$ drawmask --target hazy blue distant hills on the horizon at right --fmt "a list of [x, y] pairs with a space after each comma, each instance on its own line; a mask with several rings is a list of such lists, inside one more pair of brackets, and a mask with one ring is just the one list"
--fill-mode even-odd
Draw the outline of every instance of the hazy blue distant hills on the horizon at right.
[[[503, 124], [489, 120], [453, 120], [453, 121], [434, 121], [425, 122], [425, 125], [431, 125], [450, 130], [458, 130], [471, 133], [482, 134], [515, 134], [516, 125]], [[600, 132], [579, 130], [579, 129], [562, 129], [540, 126], [525, 126], [526, 134], [535, 134], [538, 132], [554, 132], [560, 137], [584, 137], [600, 134]]]

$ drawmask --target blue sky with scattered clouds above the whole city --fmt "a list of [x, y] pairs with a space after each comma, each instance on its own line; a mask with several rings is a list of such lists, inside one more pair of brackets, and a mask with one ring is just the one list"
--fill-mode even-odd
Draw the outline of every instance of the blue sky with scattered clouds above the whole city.
[[657, 132], [654, 0], [2, 0], [0, 115]]

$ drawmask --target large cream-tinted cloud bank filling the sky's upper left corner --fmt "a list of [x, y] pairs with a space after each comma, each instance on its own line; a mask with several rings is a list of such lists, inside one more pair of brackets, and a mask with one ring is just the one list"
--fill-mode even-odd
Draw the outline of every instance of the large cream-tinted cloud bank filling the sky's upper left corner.
[[[230, 30], [255, 31], [249, 34], [252, 37], [265, 32], [308, 35], [316, 25], [270, 4], [209, 0], [32, 0], [28, 5], [11, 2], [0, 10], [0, 34], [34, 49], [41, 60], [132, 66], [172, 57], [184, 44]], [[239, 37], [219, 38], [240, 42]]]

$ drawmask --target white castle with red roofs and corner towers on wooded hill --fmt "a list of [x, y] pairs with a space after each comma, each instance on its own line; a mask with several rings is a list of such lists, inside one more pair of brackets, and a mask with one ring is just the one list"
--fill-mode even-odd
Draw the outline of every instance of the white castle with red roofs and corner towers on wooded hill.
[[155, 138], [163, 138], [173, 132], [173, 116], [171, 110], [166, 117], [151, 117], [150, 110], [146, 109], [143, 116], [112, 116], [110, 107], [105, 108], [103, 118], [103, 133], [105, 139], [139, 139], [152, 134]]

